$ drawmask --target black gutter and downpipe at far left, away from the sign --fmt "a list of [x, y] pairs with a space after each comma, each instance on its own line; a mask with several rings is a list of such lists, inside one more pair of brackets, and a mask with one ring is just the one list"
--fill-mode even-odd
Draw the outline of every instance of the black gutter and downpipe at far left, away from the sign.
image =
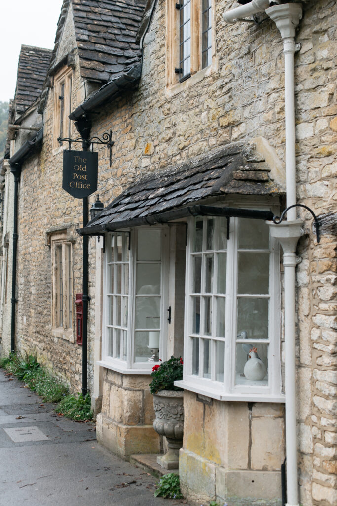
[[39, 130], [32, 141], [26, 141], [23, 146], [9, 159], [11, 173], [14, 176], [14, 209], [13, 209], [13, 261], [12, 261], [12, 315], [11, 315], [11, 353], [15, 353], [15, 305], [16, 300], [16, 264], [18, 249], [18, 198], [19, 181], [22, 162], [39, 146], [43, 139], [43, 128]]

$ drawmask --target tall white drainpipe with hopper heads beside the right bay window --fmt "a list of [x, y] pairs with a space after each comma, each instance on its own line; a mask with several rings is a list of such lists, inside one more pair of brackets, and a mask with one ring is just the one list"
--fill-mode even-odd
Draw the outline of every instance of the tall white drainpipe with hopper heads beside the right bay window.
[[[243, 8], [226, 12], [223, 18], [228, 23], [252, 14], [249, 6], [257, 9], [265, 2], [253, 0]], [[269, 2], [267, 2], [269, 4]], [[245, 9], [246, 8], [246, 12]], [[285, 94], [285, 174], [286, 205], [296, 203], [295, 171], [295, 93], [294, 53], [295, 27], [302, 18], [300, 4], [276, 5], [262, 9], [275, 21], [283, 39], [284, 94]], [[239, 11], [239, 12], [238, 12]], [[255, 11], [262, 12], [262, 11]], [[303, 221], [296, 219], [296, 207], [287, 213], [287, 220], [279, 225], [271, 224], [270, 233], [278, 238], [283, 249], [284, 266], [284, 348], [285, 348], [285, 432], [286, 432], [286, 478], [287, 506], [298, 506], [297, 485], [297, 436], [296, 436], [296, 367], [295, 367], [295, 267], [296, 245], [303, 235]]]

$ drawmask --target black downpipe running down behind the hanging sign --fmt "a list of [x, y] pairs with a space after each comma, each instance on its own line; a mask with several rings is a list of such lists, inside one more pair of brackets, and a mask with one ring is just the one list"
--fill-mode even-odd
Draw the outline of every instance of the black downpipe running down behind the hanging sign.
[[[75, 126], [82, 138], [82, 149], [89, 149], [88, 138], [90, 135], [91, 122], [86, 118], [75, 121]], [[88, 197], [83, 199], [83, 227], [88, 223]], [[83, 273], [82, 273], [82, 302], [83, 302], [83, 340], [82, 340], [82, 395], [86, 396], [87, 386], [87, 357], [88, 357], [88, 303], [90, 301], [88, 293], [88, 236], [83, 236]]]

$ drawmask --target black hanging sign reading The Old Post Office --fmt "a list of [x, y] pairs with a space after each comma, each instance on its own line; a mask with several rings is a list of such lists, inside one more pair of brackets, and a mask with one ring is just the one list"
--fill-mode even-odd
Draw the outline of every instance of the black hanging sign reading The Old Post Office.
[[84, 198], [97, 190], [98, 153], [63, 151], [62, 188], [75, 198]]

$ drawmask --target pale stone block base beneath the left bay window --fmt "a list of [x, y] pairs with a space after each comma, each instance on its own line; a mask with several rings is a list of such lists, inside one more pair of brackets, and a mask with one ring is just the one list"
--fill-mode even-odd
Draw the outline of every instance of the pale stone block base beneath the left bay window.
[[151, 376], [121, 374], [104, 369], [102, 412], [97, 416], [97, 439], [112, 452], [128, 459], [133, 453], [159, 453], [154, 431]]

